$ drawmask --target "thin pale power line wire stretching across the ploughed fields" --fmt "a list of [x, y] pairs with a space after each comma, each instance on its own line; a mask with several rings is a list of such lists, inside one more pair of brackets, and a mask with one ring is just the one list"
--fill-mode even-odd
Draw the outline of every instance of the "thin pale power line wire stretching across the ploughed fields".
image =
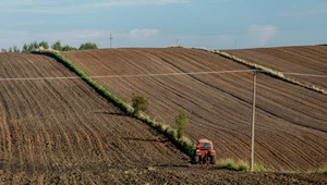
[[[232, 70], [232, 71], [209, 71], [209, 72], [181, 72], [181, 73], [153, 73], [153, 74], [131, 74], [131, 75], [107, 75], [107, 76], [89, 76], [89, 78], [124, 78], [124, 77], [154, 77], [154, 76], [182, 76], [182, 75], [206, 75], [206, 74], [226, 74], [226, 73], [250, 73], [250, 72], [264, 72], [261, 70]], [[282, 74], [300, 75], [310, 77], [327, 77], [327, 75], [305, 74], [281, 72]], [[53, 79], [78, 79], [85, 78], [81, 76], [62, 76], [62, 77], [14, 77], [14, 78], [0, 78], [2, 81], [53, 81]]]

